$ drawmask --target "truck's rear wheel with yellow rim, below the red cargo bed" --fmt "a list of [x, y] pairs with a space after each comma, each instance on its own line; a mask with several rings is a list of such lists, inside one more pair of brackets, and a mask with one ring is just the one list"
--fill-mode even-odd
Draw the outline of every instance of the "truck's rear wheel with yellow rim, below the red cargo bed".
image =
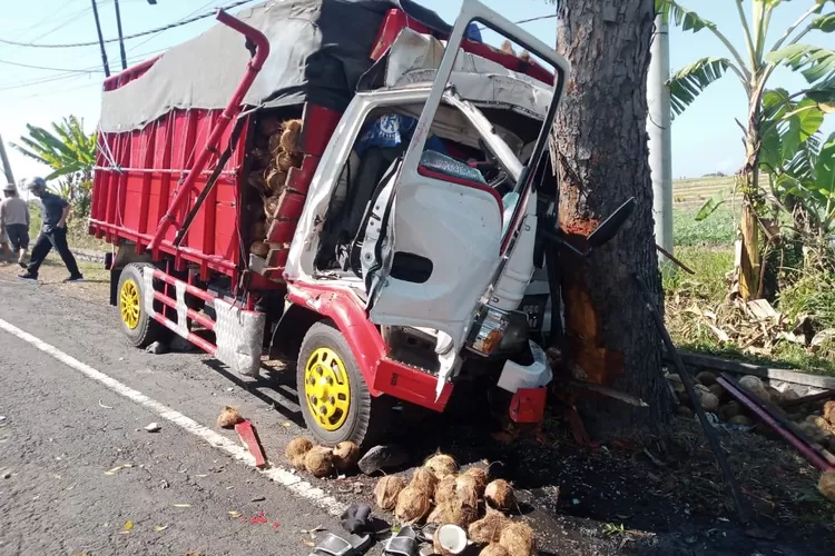
[[154, 320], [143, 307], [143, 268], [153, 265], [131, 262], [119, 276], [118, 300], [121, 331], [134, 347], [144, 348], [163, 338], [167, 328]]

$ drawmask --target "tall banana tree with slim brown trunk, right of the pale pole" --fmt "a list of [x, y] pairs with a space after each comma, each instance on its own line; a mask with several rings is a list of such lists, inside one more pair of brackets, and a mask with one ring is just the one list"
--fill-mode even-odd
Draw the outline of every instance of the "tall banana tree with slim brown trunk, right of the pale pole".
[[[835, 100], [835, 51], [800, 42], [812, 31], [835, 31], [835, 10], [832, 8], [835, 0], [809, 0], [808, 9], [770, 46], [766, 44], [766, 38], [772, 31], [772, 17], [784, 0], [750, 0], [750, 14], [746, 13], [743, 0], [725, 1], [736, 6], [744, 51], [737, 49], [716, 23], [701, 18], [681, 2], [656, 0], [656, 11], [667, 22], [685, 31], [713, 33], [727, 51], [727, 57], [701, 58], [672, 75], [668, 86], [674, 115], [680, 115], [701, 91], [725, 76], [737, 79], [748, 99], [746, 121], [740, 122], [745, 162], [737, 173], [738, 189], [743, 193], [739, 292], [748, 299], [759, 291], [762, 252], [758, 214], [767, 202], [759, 180], [764, 123], [774, 120], [773, 115], [764, 113], [766, 87], [774, 71], [785, 66], [802, 73], [808, 83], [803, 90], [787, 95], [788, 100], [808, 100], [818, 108], [829, 106]], [[804, 105], [804, 108], [806, 106], [811, 105]], [[783, 115], [787, 120], [795, 116]], [[796, 122], [789, 125], [797, 126]]]

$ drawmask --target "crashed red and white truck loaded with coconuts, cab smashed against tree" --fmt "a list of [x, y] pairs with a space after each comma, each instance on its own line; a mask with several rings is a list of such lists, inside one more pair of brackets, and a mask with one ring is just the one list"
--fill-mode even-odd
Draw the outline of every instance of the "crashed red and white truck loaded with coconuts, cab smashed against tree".
[[89, 231], [128, 340], [177, 335], [245, 376], [294, 360], [325, 444], [484, 373], [542, 419], [566, 60], [475, 0], [452, 28], [411, 0], [217, 19], [104, 82]]

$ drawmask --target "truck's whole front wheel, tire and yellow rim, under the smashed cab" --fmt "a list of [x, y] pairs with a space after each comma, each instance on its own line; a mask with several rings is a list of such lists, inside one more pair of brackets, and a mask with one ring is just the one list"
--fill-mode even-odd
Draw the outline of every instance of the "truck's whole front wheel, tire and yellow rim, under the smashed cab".
[[296, 385], [307, 429], [322, 444], [352, 440], [369, 447], [382, 436], [390, 401], [371, 396], [347, 341], [332, 322], [315, 322], [307, 330]]

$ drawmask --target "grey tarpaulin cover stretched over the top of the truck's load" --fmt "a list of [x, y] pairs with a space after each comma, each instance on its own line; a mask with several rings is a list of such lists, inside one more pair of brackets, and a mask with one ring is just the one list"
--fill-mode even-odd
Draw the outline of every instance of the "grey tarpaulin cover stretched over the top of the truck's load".
[[[377, 30], [392, 8], [441, 33], [450, 27], [412, 0], [269, 0], [235, 17], [261, 30], [271, 53], [245, 103], [311, 101], [343, 110], [371, 67]], [[106, 91], [100, 129], [140, 129], [173, 109], [218, 109], [244, 76], [244, 37], [220, 23], [166, 51], [139, 79]]]

